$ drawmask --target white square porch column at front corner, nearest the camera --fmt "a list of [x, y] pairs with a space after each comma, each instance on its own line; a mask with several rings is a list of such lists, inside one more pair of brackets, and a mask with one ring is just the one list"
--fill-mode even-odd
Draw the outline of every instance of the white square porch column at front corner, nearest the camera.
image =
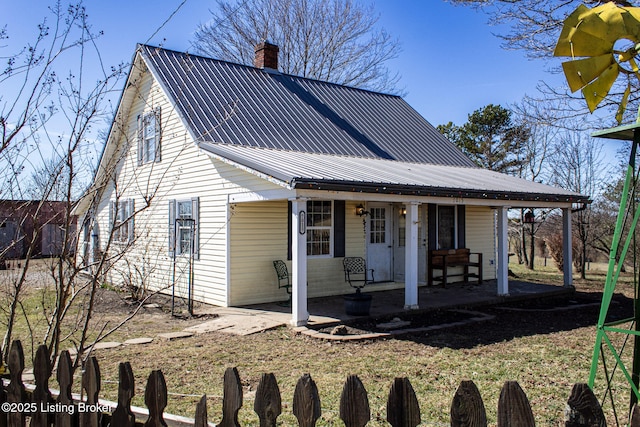
[[291, 324], [306, 325], [307, 311], [307, 201], [291, 200]]

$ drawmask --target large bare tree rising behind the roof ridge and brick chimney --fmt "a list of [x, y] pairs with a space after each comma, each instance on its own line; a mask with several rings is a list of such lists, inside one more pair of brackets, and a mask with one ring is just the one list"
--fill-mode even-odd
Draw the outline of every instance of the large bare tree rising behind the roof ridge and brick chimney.
[[252, 64], [254, 46], [280, 48], [280, 71], [371, 90], [397, 92], [387, 68], [399, 43], [377, 28], [373, 7], [353, 0], [217, 0], [218, 13], [195, 31], [197, 53]]

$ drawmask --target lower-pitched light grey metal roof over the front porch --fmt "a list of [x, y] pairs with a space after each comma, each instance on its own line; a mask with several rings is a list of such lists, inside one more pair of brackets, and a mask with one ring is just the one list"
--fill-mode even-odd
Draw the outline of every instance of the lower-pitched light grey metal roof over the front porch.
[[589, 197], [475, 167], [202, 142], [214, 158], [289, 189], [407, 196], [588, 203]]

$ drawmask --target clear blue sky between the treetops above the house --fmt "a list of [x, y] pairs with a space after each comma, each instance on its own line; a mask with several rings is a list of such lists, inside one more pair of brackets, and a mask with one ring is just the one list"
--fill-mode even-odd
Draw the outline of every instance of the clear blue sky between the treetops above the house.
[[[0, 24], [7, 24], [10, 46], [33, 40], [36, 25], [51, 4], [44, 0], [2, 0]], [[186, 0], [157, 35], [149, 38], [180, 5], [181, 0], [87, 0], [94, 30], [106, 64], [129, 61], [136, 43], [162, 44], [188, 50], [193, 30], [210, 18], [212, 0]], [[555, 79], [545, 64], [529, 61], [519, 51], [506, 51], [487, 25], [487, 16], [440, 0], [374, 3], [380, 25], [400, 40], [402, 53], [390, 64], [401, 75], [405, 99], [433, 125], [462, 124], [472, 111], [487, 104], [508, 106], [534, 94], [542, 79]], [[1, 51], [0, 51], [1, 53]], [[563, 82], [559, 82], [561, 84]]]

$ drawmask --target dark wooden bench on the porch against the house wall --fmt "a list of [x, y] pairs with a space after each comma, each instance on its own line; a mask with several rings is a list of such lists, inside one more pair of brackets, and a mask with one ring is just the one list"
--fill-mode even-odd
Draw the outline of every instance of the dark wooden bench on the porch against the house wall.
[[[476, 258], [472, 261], [471, 258]], [[462, 267], [462, 273], [450, 273], [449, 268]], [[475, 273], [469, 272], [469, 267], [476, 269]], [[440, 270], [440, 276], [434, 276], [433, 270]], [[470, 277], [478, 279], [478, 284], [482, 283], [482, 254], [471, 253], [469, 249], [439, 249], [429, 251], [429, 267], [428, 267], [428, 284], [433, 285], [434, 281], [439, 281], [442, 286], [447, 285], [447, 279], [450, 277], [464, 278], [465, 282]]]

